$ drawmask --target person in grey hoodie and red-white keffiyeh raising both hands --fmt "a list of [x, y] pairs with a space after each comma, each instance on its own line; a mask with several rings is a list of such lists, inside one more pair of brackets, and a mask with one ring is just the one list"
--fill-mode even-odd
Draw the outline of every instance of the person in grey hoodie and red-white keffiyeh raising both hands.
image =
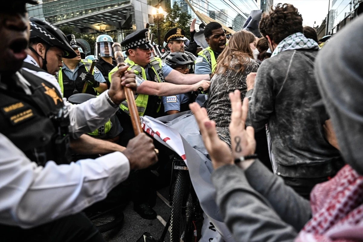
[[[346, 36], [354, 38], [354, 44]], [[336, 135], [347, 165], [314, 187], [310, 204], [253, 158], [254, 131], [250, 126], [245, 129], [248, 100], [242, 104], [239, 91], [230, 94], [233, 155], [218, 139], [215, 123], [205, 110], [191, 105], [215, 168], [212, 181], [217, 204], [236, 241], [362, 241], [362, 56], [363, 17], [359, 17], [317, 57], [318, 89], [333, 124], [327, 139], [334, 140]], [[239, 162], [233, 164], [236, 158]]]

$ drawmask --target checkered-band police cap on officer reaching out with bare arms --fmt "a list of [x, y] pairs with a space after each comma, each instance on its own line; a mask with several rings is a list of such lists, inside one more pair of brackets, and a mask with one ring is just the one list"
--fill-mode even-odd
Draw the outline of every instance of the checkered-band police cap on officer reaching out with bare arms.
[[148, 30], [149, 29], [138, 30], [126, 36], [121, 42], [122, 50], [128, 50], [133, 48], [152, 48], [148, 37]]

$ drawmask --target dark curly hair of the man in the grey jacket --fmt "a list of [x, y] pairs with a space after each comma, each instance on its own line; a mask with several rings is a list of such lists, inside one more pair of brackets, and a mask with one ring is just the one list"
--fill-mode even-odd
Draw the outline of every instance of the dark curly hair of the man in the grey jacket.
[[260, 21], [260, 32], [275, 43], [280, 43], [287, 36], [303, 31], [302, 17], [292, 4], [276, 4], [269, 13], [264, 13]]

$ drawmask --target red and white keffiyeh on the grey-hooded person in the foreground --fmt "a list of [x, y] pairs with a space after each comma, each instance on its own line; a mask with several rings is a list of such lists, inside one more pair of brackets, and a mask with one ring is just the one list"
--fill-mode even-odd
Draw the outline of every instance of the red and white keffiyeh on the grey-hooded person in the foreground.
[[310, 194], [313, 217], [295, 242], [363, 241], [363, 176], [345, 165]]

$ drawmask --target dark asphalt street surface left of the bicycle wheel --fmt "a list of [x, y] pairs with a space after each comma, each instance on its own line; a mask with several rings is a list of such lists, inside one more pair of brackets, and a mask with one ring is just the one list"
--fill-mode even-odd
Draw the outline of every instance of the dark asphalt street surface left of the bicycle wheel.
[[[160, 196], [168, 200], [168, 187], [159, 190]], [[103, 233], [103, 237], [108, 242], [136, 242], [144, 232], [149, 232], [155, 239], [159, 239], [163, 233], [164, 225], [170, 216], [171, 208], [165, 202], [156, 198], [156, 204], [153, 208], [158, 214], [155, 220], [147, 220], [139, 216], [134, 209], [132, 202], [126, 206], [123, 211], [125, 218], [122, 227]], [[165, 242], [170, 241], [170, 233], [167, 232]]]

